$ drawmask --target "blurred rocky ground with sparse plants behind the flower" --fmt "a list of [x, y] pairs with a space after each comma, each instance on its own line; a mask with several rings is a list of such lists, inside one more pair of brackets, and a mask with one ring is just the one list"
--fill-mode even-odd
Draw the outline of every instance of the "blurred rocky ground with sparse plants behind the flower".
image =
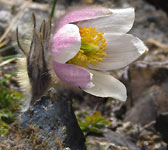
[[[168, 150], [168, 1], [58, 0], [53, 26], [69, 7], [95, 4], [134, 7], [136, 18], [130, 33], [142, 39], [149, 52], [111, 72], [127, 87], [126, 103], [66, 89], [73, 95], [87, 147], [103, 150], [115, 143], [120, 150]], [[40, 24], [48, 18], [51, 6], [52, 0], [0, 0], [0, 135], [8, 131], [26, 100], [16, 79], [16, 59], [21, 56], [16, 27], [24, 43], [31, 38], [32, 13]]]

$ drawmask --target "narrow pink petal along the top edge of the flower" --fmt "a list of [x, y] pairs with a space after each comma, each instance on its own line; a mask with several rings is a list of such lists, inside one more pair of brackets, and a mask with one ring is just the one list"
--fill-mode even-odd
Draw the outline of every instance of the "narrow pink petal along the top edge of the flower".
[[101, 18], [111, 14], [107, 8], [100, 6], [84, 7], [68, 12], [59, 22], [58, 28], [68, 23], [77, 23], [80, 21]]

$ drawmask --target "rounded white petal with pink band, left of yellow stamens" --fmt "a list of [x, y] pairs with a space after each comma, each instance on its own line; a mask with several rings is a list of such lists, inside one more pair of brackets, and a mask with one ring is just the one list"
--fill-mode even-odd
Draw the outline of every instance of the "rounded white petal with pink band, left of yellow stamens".
[[73, 24], [66, 24], [56, 32], [50, 46], [54, 60], [60, 63], [67, 62], [80, 50], [81, 37], [79, 28]]

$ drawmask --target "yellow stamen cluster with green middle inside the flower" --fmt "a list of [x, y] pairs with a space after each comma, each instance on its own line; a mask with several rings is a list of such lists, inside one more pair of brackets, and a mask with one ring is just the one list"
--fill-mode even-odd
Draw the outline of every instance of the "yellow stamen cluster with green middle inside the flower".
[[78, 54], [68, 61], [81, 67], [88, 68], [88, 64], [98, 65], [106, 56], [106, 40], [103, 32], [98, 32], [94, 27], [79, 27], [81, 48]]

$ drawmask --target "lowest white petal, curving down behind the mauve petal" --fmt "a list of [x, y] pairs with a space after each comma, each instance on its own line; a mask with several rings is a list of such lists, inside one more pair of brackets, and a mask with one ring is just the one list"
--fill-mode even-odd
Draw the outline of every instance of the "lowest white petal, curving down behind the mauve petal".
[[100, 71], [89, 71], [93, 73], [92, 82], [95, 86], [84, 90], [85, 92], [99, 97], [112, 97], [121, 101], [127, 99], [126, 88], [119, 80]]

